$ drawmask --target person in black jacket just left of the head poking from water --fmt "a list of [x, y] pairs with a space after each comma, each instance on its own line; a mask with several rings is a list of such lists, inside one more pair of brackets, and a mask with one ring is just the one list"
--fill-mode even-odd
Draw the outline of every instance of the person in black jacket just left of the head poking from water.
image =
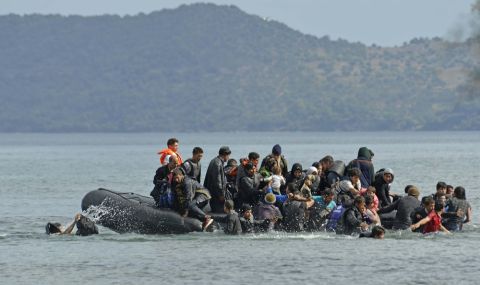
[[363, 215], [364, 212], [365, 199], [362, 196], [357, 196], [354, 201], [354, 206], [346, 209], [338, 221], [337, 234], [352, 235], [366, 231], [368, 225]]

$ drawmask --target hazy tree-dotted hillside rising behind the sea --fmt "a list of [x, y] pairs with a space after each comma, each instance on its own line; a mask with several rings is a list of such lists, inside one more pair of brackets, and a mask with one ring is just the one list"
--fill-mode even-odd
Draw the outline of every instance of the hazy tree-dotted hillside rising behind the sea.
[[0, 16], [0, 131], [479, 130], [476, 42], [315, 38], [234, 6]]

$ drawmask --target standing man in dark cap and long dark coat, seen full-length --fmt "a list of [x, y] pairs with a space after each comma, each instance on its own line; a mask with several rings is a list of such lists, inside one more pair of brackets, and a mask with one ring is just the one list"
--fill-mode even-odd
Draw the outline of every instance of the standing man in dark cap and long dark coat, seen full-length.
[[227, 191], [227, 178], [225, 177], [224, 164], [229, 159], [231, 153], [228, 146], [222, 146], [218, 151], [218, 156], [210, 161], [205, 175], [203, 185], [212, 195], [210, 207], [214, 213], [223, 212], [225, 191]]

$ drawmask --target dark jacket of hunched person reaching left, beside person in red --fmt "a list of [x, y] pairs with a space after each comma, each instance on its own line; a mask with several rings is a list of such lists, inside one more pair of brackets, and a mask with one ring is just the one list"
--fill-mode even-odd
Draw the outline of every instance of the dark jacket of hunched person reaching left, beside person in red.
[[397, 210], [395, 219], [393, 220], [394, 230], [406, 230], [412, 225], [412, 219], [410, 215], [413, 211], [420, 206], [420, 201], [413, 196], [405, 196], [385, 208], [378, 210], [379, 214], [389, 213], [393, 210]]

